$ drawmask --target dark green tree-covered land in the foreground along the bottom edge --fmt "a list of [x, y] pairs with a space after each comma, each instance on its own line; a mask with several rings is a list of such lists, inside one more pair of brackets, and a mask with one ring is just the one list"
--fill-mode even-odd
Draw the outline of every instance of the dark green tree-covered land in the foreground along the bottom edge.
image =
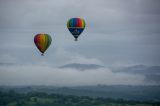
[[43, 92], [17, 93], [10, 90], [0, 92], [0, 106], [160, 106], [160, 102], [66, 96]]

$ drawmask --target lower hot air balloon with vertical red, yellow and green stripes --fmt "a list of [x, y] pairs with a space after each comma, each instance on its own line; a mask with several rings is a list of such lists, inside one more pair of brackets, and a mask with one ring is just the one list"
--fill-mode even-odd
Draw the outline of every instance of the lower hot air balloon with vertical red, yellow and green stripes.
[[42, 53], [41, 55], [43, 56], [44, 52], [48, 49], [52, 42], [52, 38], [48, 34], [37, 34], [34, 37], [34, 43], [39, 49], [39, 51]]

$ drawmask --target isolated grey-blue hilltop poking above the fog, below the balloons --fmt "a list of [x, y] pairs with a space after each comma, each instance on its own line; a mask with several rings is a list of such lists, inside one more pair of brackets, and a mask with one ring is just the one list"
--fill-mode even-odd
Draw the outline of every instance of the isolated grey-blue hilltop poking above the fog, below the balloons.
[[77, 69], [77, 70], [85, 71], [85, 70], [99, 69], [99, 68], [103, 68], [103, 67], [104, 66], [97, 65], [97, 64], [78, 64], [78, 63], [74, 63], [74, 64], [66, 64], [66, 65], [60, 66], [59, 68], [71, 68], [71, 69]]

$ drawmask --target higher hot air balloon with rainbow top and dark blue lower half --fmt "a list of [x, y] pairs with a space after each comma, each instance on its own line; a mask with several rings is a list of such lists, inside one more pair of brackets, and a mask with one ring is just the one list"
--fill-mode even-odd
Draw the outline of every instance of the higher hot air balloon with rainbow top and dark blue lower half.
[[67, 28], [74, 36], [75, 41], [78, 40], [79, 35], [85, 28], [85, 21], [82, 18], [71, 18], [67, 22]]

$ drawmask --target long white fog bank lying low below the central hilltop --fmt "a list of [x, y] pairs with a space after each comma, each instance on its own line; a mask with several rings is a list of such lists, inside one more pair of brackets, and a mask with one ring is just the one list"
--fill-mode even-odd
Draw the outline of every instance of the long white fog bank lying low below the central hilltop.
[[107, 68], [79, 71], [76, 69], [59, 69], [47, 65], [1, 66], [1, 85], [141, 85], [144, 76], [113, 73]]

